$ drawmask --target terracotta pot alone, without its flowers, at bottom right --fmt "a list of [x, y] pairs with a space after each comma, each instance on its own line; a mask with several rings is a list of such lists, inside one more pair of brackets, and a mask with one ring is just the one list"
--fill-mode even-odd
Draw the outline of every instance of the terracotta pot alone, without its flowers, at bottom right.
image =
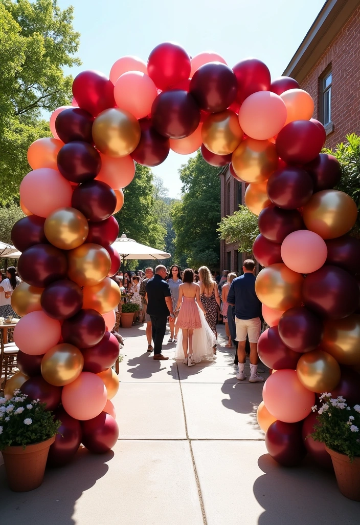
[[325, 449], [331, 456], [340, 492], [348, 499], [360, 501], [360, 457], [355, 457], [351, 463], [346, 454], [328, 447]]

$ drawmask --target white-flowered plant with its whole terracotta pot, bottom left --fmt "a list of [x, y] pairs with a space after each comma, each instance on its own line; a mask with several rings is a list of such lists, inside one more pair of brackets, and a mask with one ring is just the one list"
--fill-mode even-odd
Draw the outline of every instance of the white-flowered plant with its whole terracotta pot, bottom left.
[[0, 450], [9, 487], [15, 492], [42, 483], [49, 448], [61, 425], [45, 407], [40, 400], [27, 400], [19, 390], [9, 400], [0, 397]]

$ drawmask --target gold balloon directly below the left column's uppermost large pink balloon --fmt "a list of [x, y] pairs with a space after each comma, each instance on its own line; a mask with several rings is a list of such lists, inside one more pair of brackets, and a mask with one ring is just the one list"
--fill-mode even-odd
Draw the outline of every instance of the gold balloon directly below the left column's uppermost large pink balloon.
[[85, 215], [75, 208], [59, 208], [51, 213], [44, 224], [44, 233], [53, 246], [72, 250], [81, 246], [89, 226]]

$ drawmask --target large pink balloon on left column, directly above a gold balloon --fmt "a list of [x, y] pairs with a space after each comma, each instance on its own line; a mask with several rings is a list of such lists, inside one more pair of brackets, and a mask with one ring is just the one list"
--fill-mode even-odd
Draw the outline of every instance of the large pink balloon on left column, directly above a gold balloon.
[[71, 207], [72, 194], [70, 182], [49, 167], [31, 171], [20, 184], [22, 204], [40, 217], [48, 217], [55, 209]]

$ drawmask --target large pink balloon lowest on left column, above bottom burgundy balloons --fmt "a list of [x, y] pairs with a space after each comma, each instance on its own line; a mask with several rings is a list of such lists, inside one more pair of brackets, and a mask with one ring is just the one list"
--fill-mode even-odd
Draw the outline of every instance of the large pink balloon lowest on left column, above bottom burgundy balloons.
[[85, 421], [103, 412], [107, 391], [102, 379], [92, 372], [82, 372], [72, 383], [62, 389], [62, 405], [74, 419]]

